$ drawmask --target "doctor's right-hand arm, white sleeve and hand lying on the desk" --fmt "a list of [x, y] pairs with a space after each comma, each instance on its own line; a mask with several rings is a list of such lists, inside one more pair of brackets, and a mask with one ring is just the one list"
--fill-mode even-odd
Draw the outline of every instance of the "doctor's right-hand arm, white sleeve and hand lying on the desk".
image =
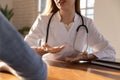
[[92, 53], [83, 52], [74, 58], [66, 58], [67, 61], [74, 62], [79, 60], [115, 60], [115, 50], [109, 42], [98, 32], [92, 20], [87, 21], [88, 26], [88, 46], [92, 49]]

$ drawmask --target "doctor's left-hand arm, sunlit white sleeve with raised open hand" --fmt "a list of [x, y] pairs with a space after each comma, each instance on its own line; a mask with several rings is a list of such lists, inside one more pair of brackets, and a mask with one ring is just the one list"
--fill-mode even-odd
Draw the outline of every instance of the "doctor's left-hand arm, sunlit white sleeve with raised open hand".
[[24, 40], [31, 46], [33, 50], [35, 50], [40, 56], [46, 53], [57, 53], [60, 52], [64, 46], [55, 46], [51, 47], [48, 44], [39, 45], [39, 40], [45, 37], [46, 23], [47, 20], [44, 19], [41, 15], [37, 17], [32, 28], [29, 31], [29, 34], [26, 35]]

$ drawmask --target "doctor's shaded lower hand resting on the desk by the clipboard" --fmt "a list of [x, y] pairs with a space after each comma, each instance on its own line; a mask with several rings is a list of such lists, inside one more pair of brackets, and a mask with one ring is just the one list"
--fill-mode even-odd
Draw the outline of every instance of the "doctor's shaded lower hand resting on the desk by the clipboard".
[[87, 51], [84, 51], [83, 53], [78, 54], [74, 58], [66, 57], [65, 61], [67, 62], [78, 62], [80, 60], [94, 60], [97, 57], [94, 54], [88, 54]]

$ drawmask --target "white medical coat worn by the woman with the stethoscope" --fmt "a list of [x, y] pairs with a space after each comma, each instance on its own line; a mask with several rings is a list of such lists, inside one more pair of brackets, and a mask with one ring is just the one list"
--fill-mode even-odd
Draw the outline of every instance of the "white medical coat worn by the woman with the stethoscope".
[[[39, 15], [34, 22], [29, 34], [25, 37], [25, 41], [30, 46], [39, 46], [38, 42], [41, 39], [45, 41], [47, 25], [51, 14]], [[80, 28], [76, 34], [76, 29], [82, 24], [81, 18], [75, 14], [74, 22], [70, 29], [65, 28], [65, 24], [61, 22], [59, 12], [57, 12], [50, 23], [48, 44], [50, 46], [65, 45], [65, 48], [56, 54], [48, 53], [47, 58], [61, 59], [65, 57], [74, 57], [84, 50], [87, 44], [92, 48], [92, 54], [99, 59], [114, 60], [115, 50], [111, 47], [102, 34], [98, 32], [93, 21], [89, 18], [83, 17], [84, 23], [88, 28], [88, 37], [84, 28]], [[77, 45], [77, 46], [76, 46]]]

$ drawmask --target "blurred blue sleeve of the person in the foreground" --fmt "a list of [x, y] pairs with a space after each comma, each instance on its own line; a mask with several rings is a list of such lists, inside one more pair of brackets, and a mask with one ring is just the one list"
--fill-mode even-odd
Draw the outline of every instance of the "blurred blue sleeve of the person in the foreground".
[[0, 60], [12, 67], [24, 80], [46, 80], [47, 68], [41, 56], [25, 42], [0, 12]]

